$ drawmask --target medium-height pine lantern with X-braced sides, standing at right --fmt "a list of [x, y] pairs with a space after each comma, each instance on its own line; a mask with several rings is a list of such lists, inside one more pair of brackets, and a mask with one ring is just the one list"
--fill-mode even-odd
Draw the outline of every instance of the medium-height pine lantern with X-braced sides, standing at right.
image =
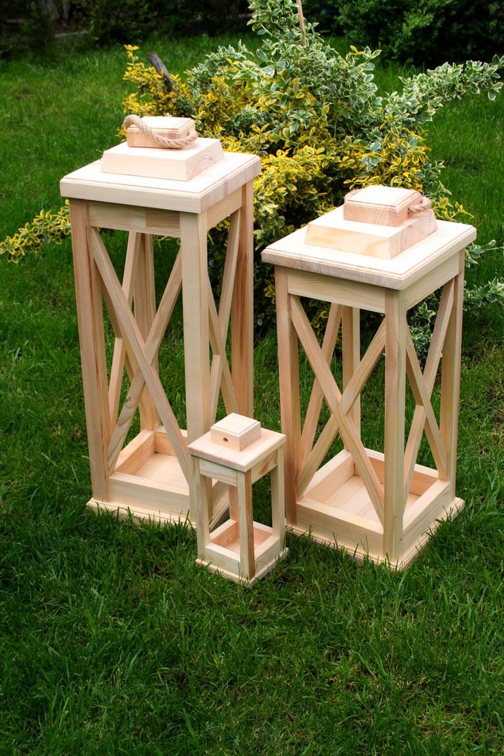
[[[275, 266], [282, 429], [286, 446], [286, 520], [295, 533], [403, 567], [440, 519], [463, 506], [456, 497], [464, 249], [472, 226], [435, 221], [410, 190], [369, 187], [345, 206], [295, 231], [263, 253]], [[423, 368], [407, 311], [436, 290], [441, 299]], [[320, 345], [303, 299], [329, 303]], [[383, 314], [360, 354], [360, 309]], [[342, 382], [331, 370], [342, 331]], [[298, 344], [314, 373], [301, 428]], [[360, 394], [385, 352], [384, 451], [361, 440]], [[439, 419], [432, 392], [441, 360]], [[414, 398], [406, 429], [406, 388]], [[323, 425], [323, 402], [329, 420]], [[434, 402], [435, 405], [435, 402]], [[435, 469], [416, 463], [422, 435]], [[342, 451], [326, 460], [337, 436]], [[322, 465], [322, 466], [321, 466]]]

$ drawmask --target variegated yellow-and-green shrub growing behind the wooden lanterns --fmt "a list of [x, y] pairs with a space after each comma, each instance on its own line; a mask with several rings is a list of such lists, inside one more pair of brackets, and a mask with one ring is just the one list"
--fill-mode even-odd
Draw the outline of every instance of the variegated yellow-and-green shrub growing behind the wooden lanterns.
[[[133, 91], [125, 112], [191, 116], [202, 136], [224, 149], [262, 157], [255, 180], [255, 237], [261, 249], [311, 218], [339, 205], [349, 189], [368, 184], [411, 187], [431, 197], [438, 217], [464, 218], [441, 183], [443, 166], [429, 159], [425, 124], [447, 101], [502, 87], [504, 58], [493, 64], [444, 64], [404, 80], [401, 94], [379, 97], [373, 80], [378, 53], [369, 48], [342, 57], [308, 24], [306, 39], [291, 0], [252, 0], [262, 46], [219, 48], [169, 92], [162, 76], [127, 46], [125, 79]], [[467, 215], [467, 214], [466, 214]], [[224, 231], [222, 231], [224, 233]], [[16, 243], [14, 243], [14, 241]], [[212, 259], [223, 245], [212, 234]], [[0, 254], [14, 259], [12, 237]], [[271, 268], [257, 265], [258, 322], [272, 309]], [[492, 296], [499, 295], [493, 285]], [[500, 290], [502, 295], [502, 290]], [[484, 291], [478, 301], [484, 301]]]

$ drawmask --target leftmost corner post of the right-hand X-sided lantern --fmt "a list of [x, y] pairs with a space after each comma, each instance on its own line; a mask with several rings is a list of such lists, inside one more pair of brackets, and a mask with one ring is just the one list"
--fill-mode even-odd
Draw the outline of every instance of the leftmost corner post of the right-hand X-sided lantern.
[[292, 325], [287, 274], [282, 268], [275, 268], [275, 287], [280, 416], [282, 430], [287, 439], [285, 451], [286, 519], [289, 525], [295, 525], [295, 480], [298, 476], [297, 450], [301, 442], [298, 336]]

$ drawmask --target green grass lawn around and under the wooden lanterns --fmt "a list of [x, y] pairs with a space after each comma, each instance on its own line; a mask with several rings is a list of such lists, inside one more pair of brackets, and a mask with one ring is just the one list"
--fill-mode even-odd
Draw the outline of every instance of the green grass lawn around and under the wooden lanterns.
[[[175, 70], [215, 42], [199, 44], [157, 51]], [[112, 49], [0, 72], [2, 236], [57, 207], [60, 176], [113, 143], [123, 67]], [[467, 107], [444, 111], [434, 149], [457, 165], [479, 154], [478, 181], [454, 166], [447, 184], [476, 225], [489, 216], [490, 238], [502, 210], [479, 187], [502, 193], [502, 154], [487, 141], [502, 98]], [[123, 241], [107, 238], [118, 264]], [[185, 528], [85, 509], [70, 243], [0, 266], [2, 756], [502, 754], [504, 347], [493, 318], [465, 325], [462, 515], [402, 575], [289, 538], [286, 562], [247, 590], [196, 568]], [[165, 349], [181, 384], [175, 333]], [[256, 417], [277, 428], [274, 336], [257, 345], [255, 382]], [[381, 395], [378, 371], [364, 410], [377, 445]], [[264, 488], [255, 503], [267, 517]]]

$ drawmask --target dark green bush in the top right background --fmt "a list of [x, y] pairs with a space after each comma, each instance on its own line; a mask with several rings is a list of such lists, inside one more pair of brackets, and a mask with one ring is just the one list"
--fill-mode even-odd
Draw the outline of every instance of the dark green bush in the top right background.
[[487, 0], [310, 0], [322, 29], [354, 45], [379, 47], [385, 58], [434, 66], [444, 60], [491, 60], [504, 53], [504, 6]]

